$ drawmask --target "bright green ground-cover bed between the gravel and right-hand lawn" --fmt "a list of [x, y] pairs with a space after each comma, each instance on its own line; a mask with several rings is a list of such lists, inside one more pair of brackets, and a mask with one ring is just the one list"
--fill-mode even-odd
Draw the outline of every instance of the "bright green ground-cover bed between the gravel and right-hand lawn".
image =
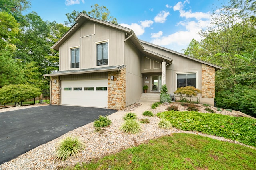
[[183, 131], [198, 131], [256, 146], [256, 119], [194, 111], [166, 111], [156, 116]]

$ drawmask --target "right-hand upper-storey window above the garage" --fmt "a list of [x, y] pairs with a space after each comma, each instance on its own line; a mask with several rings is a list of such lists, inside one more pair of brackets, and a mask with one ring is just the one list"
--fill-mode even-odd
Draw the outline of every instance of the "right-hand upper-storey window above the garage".
[[97, 66], [108, 65], [108, 42], [96, 44]]

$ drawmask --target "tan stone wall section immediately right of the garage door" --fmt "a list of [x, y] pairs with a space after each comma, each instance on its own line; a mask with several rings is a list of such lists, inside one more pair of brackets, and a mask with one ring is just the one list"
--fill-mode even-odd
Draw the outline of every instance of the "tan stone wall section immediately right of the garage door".
[[[108, 72], [108, 109], [120, 110], [125, 107], [126, 69]], [[114, 80], [110, 80], [114, 76]]]

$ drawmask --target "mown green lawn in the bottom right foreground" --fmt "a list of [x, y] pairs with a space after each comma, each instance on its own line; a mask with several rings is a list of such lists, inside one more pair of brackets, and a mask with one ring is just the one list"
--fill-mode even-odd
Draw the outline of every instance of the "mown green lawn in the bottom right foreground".
[[75, 170], [255, 170], [256, 150], [193, 134], [174, 133], [77, 164]]

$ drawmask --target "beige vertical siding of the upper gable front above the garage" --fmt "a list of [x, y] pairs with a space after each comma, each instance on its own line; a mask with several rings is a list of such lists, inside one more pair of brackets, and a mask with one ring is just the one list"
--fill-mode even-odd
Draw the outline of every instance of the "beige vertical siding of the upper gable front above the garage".
[[60, 46], [60, 71], [70, 68], [70, 48], [80, 47], [80, 68], [96, 68], [96, 43], [108, 41], [108, 66], [124, 64], [124, 32], [93, 22], [84, 23]]

